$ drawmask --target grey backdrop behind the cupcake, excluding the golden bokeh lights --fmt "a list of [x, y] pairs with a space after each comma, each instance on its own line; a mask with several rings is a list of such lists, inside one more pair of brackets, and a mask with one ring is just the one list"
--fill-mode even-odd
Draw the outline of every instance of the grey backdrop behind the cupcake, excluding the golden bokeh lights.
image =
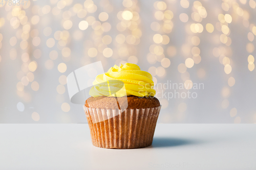
[[[69, 1], [67, 1], [69, 2]], [[105, 1], [101, 1], [106, 3]], [[182, 8], [180, 1], [165, 1], [167, 4], [166, 10], [171, 10], [174, 13], [173, 30], [171, 33], [166, 34], [163, 32], [155, 32], [151, 29], [151, 23], [157, 21], [162, 23], [162, 21], [157, 20], [154, 17], [156, 10], [154, 8], [155, 1], [138, 1], [136, 10], [140, 15], [140, 23], [138, 28], [142, 31], [142, 36], [140, 37], [140, 43], [138, 45], [129, 45], [125, 42], [129, 49], [136, 49], [136, 57], [138, 59], [138, 65], [141, 70], [147, 71], [148, 68], [155, 66], [161, 66], [161, 62], [156, 61], [154, 64], [148, 63], [146, 56], [150, 53], [150, 45], [155, 44], [153, 41], [154, 34], [165, 34], [170, 38], [170, 42], [167, 45], [162, 45], [164, 48], [165, 57], [170, 60], [170, 66], [165, 69], [165, 75], [163, 77], [155, 76], [157, 83], [166, 83], [167, 81], [172, 81], [174, 83], [184, 83], [181, 79], [181, 73], [178, 71], [178, 65], [184, 63], [185, 59], [188, 57], [193, 57], [189, 52], [188, 55], [184, 53], [182, 46], [184, 44], [193, 47], [189, 38], [192, 36], [198, 36], [201, 40], [198, 47], [201, 50], [200, 56], [202, 58], [199, 64], [195, 64], [192, 68], [187, 68], [187, 72], [190, 75], [190, 79], [193, 83], [204, 83], [204, 89], [201, 90], [191, 90], [191, 92], [197, 92], [198, 97], [196, 99], [170, 99], [159, 98], [162, 105], [159, 117], [159, 123], [256, 123], [256, 106], [255, 106], [255, 70], [250, 71], [247, 67], [248, 61], [247, 57], [249, 54], [255, 56], [255, 52], [248, 53], [246, 51], [246, 44], [250, 41], [247, 39], [247, 34], [251, 32], [250, 28], [246, 28], [243, 25], [243, 20], [246, 16], [238, 16], [233, 8], [229, 11], [224, 11], [221, 8], [222, 1], [200, 1], [203, 7], [207, 11], [207, 17], [203, 18], [200, 22], [204, 30], [202, 33], [192, 33], [191, 31], [186, 31], [191, 23], [197, 23], [191, 19], [191, 13], [193, 12], [193, 2], [189, 1], [188, 8]], [[53, 4], [52, 4], [53, 3]], [[109, 1], [110, 5], [113, 7], [113, 11], [109, 13], [109, 19], [107, 22], [111, 23], [110, 32], [103, 33], [103, 35], [110, 35], [112, 37], [112, 43], [108, 45], [114, 51], [113, 56], [110, 58], [105, 58], [102, 53], [98, 52], [98, 55], [91, 58], [84, 53], [88, 49], [85, 41], [90, 40], [94, 42], [93, 29], [91, 26], [87, 30], [81, 31], [78, 28], [78, 24], [81, 20], [86, 19], [88, 16], [94, 16], [98, 20], [98, 15], [100, 12], [104, 11], [104, 8], [100, 6], [99, 1], [94, 3], [97, 6], [97, 10], [94, 13], [87, 13], [86, 17], [78, 18], [77, 15], [71, 16], [70, 20], [73, 22], [73, 26], [68, 32], [70, 33], [69, 39], [67, 41], [67, 47], [71, 49], [71, 56], [67, 59], [61, 56], [61, 48], [57, 45], [57, 40], [55, 40], [55, 45], [52, 48], [47, 47], [46, 41], [48, 38], [54, 38], [54, 33], [58, 30], [64, 31], [62, 27], [62, 22], [65, 21], [62, 18], [62, 13], [64, 11], [70, 10], [75, 4], [79, 3], [83, 5], [84, 1], [73, 1], [69, 6], [61, 9], [60, 14], [53, 15], [52, 9], [56, 7], [54, 1], [32, 1], [28, 9], [25, 9], [26, 15], [28, 16], [28, 22], [31, 21], [31, 17], [34, 14], [32, 8], [38, 6], [39, 10], [46, 6], [51, 6], [51, 12], [48, 14], [40, 15], [40, 21], [36, 25], [31, 25], [31, 30], [38, 29], [40, 44], [38, 46], [33, 46], [32, 38], [29, 37], [28, 43], [29, 47], [22, 50], [19, 47], [20, 39], [17, 39], [15, 46], [11, 46], [9, 40], [11, 37], [16, 36], [19, 30], [22, 30], [22, 25], [17, 29], [13, 29], [10, 25], [11, 10], [6, 11], [4, 7], [0, 8], [0, 15], [5, 18], [4, 25], [0, 28], [0, 33], [3, 35], [2, 47], [0, 49], [0, 55], [2, 61], [0, 62], [0, 123], [84, 123], [87, 122], [86, 116], [84, 115], [83, 108], [81, 105], [72, 104], [69, 101], [67, 85], [66, 92], [63, 94], [58, 94], [56, 87], [59, 85], [58, 78], [61, 75], [66, 75], [73, 70], [92, 63], [96, 61], [102, 61], [103, 68], [107, 71], [115, 63], [119, 64], [121, 61], [127, 61], [126, 58], [120, 58], [117, 53], [118, 46], [116, 46], [115, 37], [118, 34], [124, 34], [125, 36], [131, 34], [129, 31], [119, 32], [116, 25], [120, 20], [117, 18], [117, 13], [123, 11], [125, 7], [122, 5], [122, 1]], [[255, 9], [249, 6], [249, 1], [247, 3], [241, 4], [239, 1], [238, 5], [249, 14], [249, 23], [255, 24]], [[134, 10], [134, 11], [136, 11]], [[186, 23], [181, 22], [179, 15], [181, 13], [186, 13], [189, 17]], [[216, 29], [216, 23], [219, 22], [218, 15], [220, 13], [229, 13], [233, 20], [228, 24], [230, 28], [229, 37], [232, 40], [230, 46], [226, 46], [221, 43], [218, 39], [222, 34], [221, 31]], [[207, 23], [211, 23], [215, 26], [215, 30], [212, 33], [208, 33], [205, 29]], [[50, 36], [45, 36], [43, 31], [44, 28], [51, 27], [52, 33]], [[189, 30], [189, 29], [188, 29]], [[79, 40], [74, 38], [74, 33], [79, 31], [82, 37]], [[255, 45], [255, 40], [251, 42]], [[166, 53], [168, 46], [175, 46], [177, 54], [170, 57]], [[224, 72], [224, 65], [219, 62], [218, 57], [214, 57], [212, 51], [215, 47], [226, 48], [229, 53], [226, 55], [231, 59], [230, 65], [232, 66], [232, 71], [229, 75]], [[10, 59], [10, 50], [15, 48], [17, 51], [17, 57], [15, 60]], [[42, 55], [39, 59], [34, 58], [33, 51], [39, 49]], [[49, 53], [52, 50], [58, 52], [58, 58], [54, 60], [54, 67], [50, 70], [46, 69], [45, 62], [49, 60]], [[17, 95], [16, 85], [19, 82], [17, 79], [17, 72], [20, 71], [23, 61], [21, 56], [24, 52], [28, 52], [31, 61], [36, 61], [38, 64], [37, 69], [33, 72], [35, 79], [39, 83], [39, 90], [33, 91], [31, 89], [31, 83], [25, 86], [24, 90], [26, 94], [30, 96], [30, 100], [20, 98]], [[132, 52], [131, 52], [132, 53]], [[130, 56], [130, 55], [129, 55]], [[69, 60], [69, 61], [67, 61]], [[57, 69], [59, 63], [66, 63], [67, 71], [60, 73]], [[205, 77], [199, 78], [197, 71], [199, 69], [205, 70]], [[236, 80], [234, 86], [228, 86], [228, 78], [233, 77]], [[230, 90], [230, 95], [224, 97], [222, 95], [223, 88], [228, 88]], [[165, 90], [165, 92], [173, 92], [173, 90]], [[181, 90], [186, 91], [186, 90]], [[57, 100], [57, 99], [58, 100]], [[227, 99], [229, 105], [227, 108], [222, 107], [223, 100]], [[25, 106], [23, 112], [18, 111], [17, 103], [22, 102]], [[68, 103], [70, 105], [70, 111], [64, 112], [61, 110], [61, 104]], [[167, 104], [166, 104], [167, 103]], [[185, 111], [179, 111], [179, 105], [181, 103], [186, 104]], [[230, 116], [230, 110], [232, 108], [237, 109], [237, 115], [234, 117]], [[38, 122], [35, 122], [31, 114], [37, 112], [40, 115]], [[238, 118], [237, 118], [238, 117]], [[235, 121], [237, 118], [238, 121]]]

